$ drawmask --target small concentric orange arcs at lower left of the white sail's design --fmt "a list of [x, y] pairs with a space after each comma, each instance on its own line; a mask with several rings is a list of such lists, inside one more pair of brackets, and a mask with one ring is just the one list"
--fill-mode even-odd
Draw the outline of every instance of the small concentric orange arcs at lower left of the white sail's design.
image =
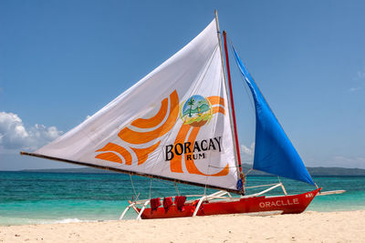
[[[102, 147], [95, 152], [102, 152], [102, 151], [108, 151], [108, 153], [99, 154], [96, 156], [96, 158], [108, 160], [111, 162], [121, 163], [120, 157], [118, 157], [118, 155], [112, 153], [112, 152], [116, 152], [116, 153], [120, 154], [121, 157], [124, 158], [126, 165], [131, 165], [130, 152], [128, 152], [128, 150], [125, 149], [124, 147], [120, 147], [119, 145], [109, 143], [105, 147]], [[111, 156], [111, 154], [113, 154], [114, 156]]]

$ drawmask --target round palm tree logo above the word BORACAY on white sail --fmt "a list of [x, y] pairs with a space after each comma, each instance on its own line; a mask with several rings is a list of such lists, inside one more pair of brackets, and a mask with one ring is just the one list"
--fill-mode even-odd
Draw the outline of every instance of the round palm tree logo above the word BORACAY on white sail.
[[203, 96], [191, 96], [183, 104], [180, 115], [184, 124], [202, 127], [212, 118], [212, 106]]

